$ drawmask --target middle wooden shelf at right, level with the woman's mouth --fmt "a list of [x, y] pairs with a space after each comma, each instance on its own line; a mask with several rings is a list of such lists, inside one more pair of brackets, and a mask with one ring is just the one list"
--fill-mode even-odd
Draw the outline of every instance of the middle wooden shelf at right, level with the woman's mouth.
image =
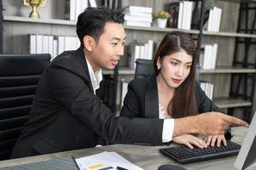
[[224, 74], [229, 74], [229, 73], [255, 73], [256, 69], [247, 69], [247, 68], [242, 68], [242, 67], [232, 67], [232, 66], [223, 66], [223, 67], [218, 67], [216, 69], [201, 69], [199, 71], [201, 74], [217, 74], [217, 73], [224, 73]]

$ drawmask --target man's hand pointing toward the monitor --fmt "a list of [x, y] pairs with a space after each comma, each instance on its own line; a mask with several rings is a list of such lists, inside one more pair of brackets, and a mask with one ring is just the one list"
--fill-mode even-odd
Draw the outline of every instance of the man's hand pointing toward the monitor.
[[201, 133], [206, 136], [221, 135], [231, 124], [249, 127], [247, 122], [241, 119], [212, 111], [197, 116], [175, 119], [173, 137], [187, 133]]

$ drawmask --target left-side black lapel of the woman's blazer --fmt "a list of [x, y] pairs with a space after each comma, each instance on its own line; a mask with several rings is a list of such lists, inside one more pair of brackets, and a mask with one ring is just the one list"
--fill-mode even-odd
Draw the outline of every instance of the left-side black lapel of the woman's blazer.
[[158, 90], [154, 75], [147, 77], [145, 94], [145, 117], [159, 118]]

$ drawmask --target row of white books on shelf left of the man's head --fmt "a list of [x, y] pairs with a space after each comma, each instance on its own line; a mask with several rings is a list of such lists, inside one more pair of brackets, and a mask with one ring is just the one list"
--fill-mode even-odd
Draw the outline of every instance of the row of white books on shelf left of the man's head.
[[28, 41], [30, 54], [50, 54], [52, 59], [64, 51], [80, 47], [78, 37], [29, 34]]

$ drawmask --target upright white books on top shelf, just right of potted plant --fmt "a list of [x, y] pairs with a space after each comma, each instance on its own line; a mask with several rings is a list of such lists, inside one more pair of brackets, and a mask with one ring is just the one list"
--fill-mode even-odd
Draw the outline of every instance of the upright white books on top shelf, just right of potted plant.
[[181, 1], [178, 8], [177, 28], [190, 30], [193, 2]]

